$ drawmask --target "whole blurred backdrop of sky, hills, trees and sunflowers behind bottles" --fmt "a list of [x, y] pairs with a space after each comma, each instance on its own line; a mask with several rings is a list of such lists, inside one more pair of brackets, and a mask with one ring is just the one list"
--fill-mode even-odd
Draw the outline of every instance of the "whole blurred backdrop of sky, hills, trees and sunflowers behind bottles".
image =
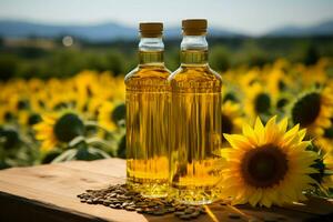
[[229, 101], [223, 132], [256, 115], [316, 119], [289, 105], [332, 79], [331, 0], [1, 0], [0, 168], [124, 158], [123, 77], [138, 63], [138, 24], [164, 22], [175, 70], [190, 18], [209, 20], [209, 60]]

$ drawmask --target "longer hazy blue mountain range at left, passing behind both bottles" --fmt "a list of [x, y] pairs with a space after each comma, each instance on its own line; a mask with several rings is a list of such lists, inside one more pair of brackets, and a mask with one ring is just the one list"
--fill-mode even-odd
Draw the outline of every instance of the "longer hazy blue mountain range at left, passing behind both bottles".
[[[179, 38], [180, 34], [180, 28], [165, 29], [165, 37], [168, 38]], [[236, 32], [214, 28], [210, 29], [210, 34], [214, 37], [240, 36]], [[134, 39], [138, 37], [138, 29], [114, 22], [95, 26], [53, 26], [2, 20], [0, 21], [0, 36], [9, 38], [73, 36], [90, 41], [110, 41], [115, 39]]]

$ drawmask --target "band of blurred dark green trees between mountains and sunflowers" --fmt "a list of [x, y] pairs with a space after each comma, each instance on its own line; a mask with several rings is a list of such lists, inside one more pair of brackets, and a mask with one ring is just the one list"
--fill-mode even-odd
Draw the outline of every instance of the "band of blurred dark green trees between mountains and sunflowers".
[[[31, 40], [36, 42], [36, 39]], [[51, 40], [50, 40], [51, 41]], [[165, 64], [170, 70], [179, 67], [180, 41], [165, 41]], [[50, 78], [71, 77], [81, 70], [112, 71], [124, 74], [137, 63], [138, 41], [109, 43], [80, 42], [64, 48], [54, 40], [56, 47], [9, 47], [2, 42], [0, 52], [0, 80], [13, 77]], [[1, 42], [0, 42], [1, 43]], [[313, 64], [320, 57], [333, 56], [333, 43], [327, 38], [211, 38], [210, 63], [218, 71], [239, 65], [263, 65], [278, 58], [291, 62]]]

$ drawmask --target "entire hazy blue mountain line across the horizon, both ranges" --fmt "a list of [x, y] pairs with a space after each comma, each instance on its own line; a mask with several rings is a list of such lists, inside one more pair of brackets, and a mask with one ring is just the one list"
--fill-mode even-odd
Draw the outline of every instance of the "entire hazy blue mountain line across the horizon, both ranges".
[[[246, 33], [234, 32], [221, 28], [210, 28], [211, 37], [246, 37]], [[304, 37], [304, 36], [333, 36], [333, 20], [311, 27], [286, 26], [274, 29], [265, 37]], [[0, 37], [27, 38], [44, 37], [57, 38], [73, 36], [89, 41], [112, 41], [117, 39], [130, 40], [138, 37], [138, 29], [115, 22], [89, 26], [56, 26], [26, 21], [0, 20]], [[167, 38], [180, 38], [180, 27], [167, 27]]]

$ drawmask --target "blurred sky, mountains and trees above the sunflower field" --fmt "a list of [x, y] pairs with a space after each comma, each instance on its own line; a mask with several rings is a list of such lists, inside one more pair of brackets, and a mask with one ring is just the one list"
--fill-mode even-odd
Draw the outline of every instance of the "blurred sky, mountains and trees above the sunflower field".
[[127, 73], [137, 63], [138, 23], [163, 21], [167, 65], [179, 65], [180, 23], [206, 18], [216, 70], [278, 58], [315, 63], [333, 53], [330, 0], [1, 0], [0, 78], [70, 77], [82, 69]]

